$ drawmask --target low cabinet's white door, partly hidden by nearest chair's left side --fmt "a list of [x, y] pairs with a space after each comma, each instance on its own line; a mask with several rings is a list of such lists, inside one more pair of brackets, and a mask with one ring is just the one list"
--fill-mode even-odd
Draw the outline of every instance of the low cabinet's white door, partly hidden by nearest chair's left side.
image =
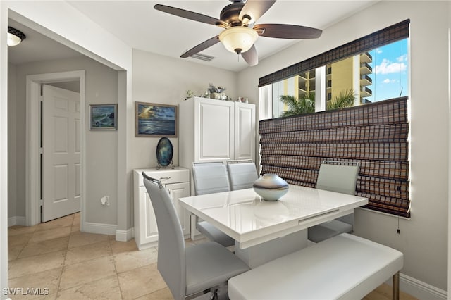
[[[140, 227], [139, 241], [140, 245], [158, 241], [158, 227], [152, 202], [146, 187], [140, 187]], [[139, 246], [138, 246], [139, 247]]]

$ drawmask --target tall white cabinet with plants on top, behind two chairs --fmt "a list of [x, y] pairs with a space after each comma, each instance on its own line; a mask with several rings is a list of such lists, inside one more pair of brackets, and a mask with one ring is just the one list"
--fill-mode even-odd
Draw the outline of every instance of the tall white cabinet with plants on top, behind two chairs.
[[[179, 163], [255, 161], [255, 106], [193, 97], [179, 104]], [[193, 192], [193, 191], [192, 191]]]

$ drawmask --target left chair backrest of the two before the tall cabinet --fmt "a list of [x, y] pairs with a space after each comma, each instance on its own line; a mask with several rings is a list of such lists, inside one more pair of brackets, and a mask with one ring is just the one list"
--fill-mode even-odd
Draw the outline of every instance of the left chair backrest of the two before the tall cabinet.
[[226, 165], [222, 162], [192, 163], [192, 178], [197, 195], [230, 190]]

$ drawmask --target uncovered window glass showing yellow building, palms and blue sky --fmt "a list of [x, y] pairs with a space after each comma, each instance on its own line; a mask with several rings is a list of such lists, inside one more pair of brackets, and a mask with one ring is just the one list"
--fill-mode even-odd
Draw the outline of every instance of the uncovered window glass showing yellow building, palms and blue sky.
[[[317, 84], [326, 94], [326, 104], [316, 107], [327, 110], [407, 96], [407, 49], [407, 38], [401, 39], [320, 67], [326, 68], [326, 76], [316, 75], [320, 69], [316, 68], [273, 82], [272, 118], [313, 112], [306, 108], [304, 99], [321, 101], [315, 93]], [[282, 101], [287, 96], [293, 103]], [[296, 109], [296, 113], [287, 113]]]

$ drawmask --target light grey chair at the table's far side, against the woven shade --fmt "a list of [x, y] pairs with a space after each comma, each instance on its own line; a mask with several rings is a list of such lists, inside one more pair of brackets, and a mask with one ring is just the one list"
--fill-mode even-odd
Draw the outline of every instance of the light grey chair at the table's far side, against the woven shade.
[[[359, 174], [358, 162], [323, 161], [319, 167], [317, 189], [326, 189], [343, 194], [355, 194], [357, 175]], [[341, 233], [354, 231], [354, 213], [344, 215], [335, 220], [309, 227], [308, 239], [311, 242], [321, 242]]]

